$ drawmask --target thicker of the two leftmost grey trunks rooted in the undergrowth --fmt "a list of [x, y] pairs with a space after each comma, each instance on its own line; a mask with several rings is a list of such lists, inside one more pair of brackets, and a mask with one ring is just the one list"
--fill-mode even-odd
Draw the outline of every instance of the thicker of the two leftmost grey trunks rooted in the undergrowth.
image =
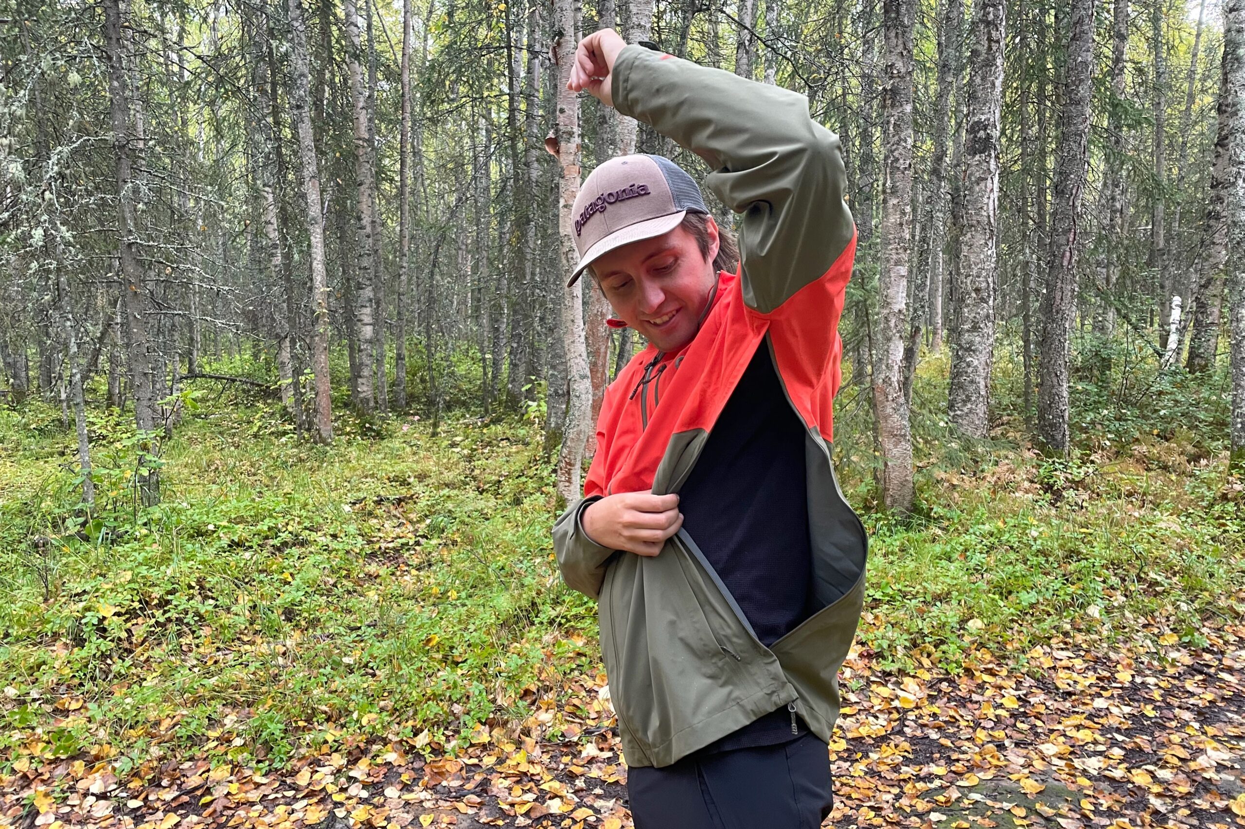
[[[128, 9], [126, 16], [128, 15]], [[103, 0], [103, 31], [108, 54], [108, 97], [117, 176], [117, 232], [121, 264], [121, 296], [126, 312], [129, 375], [133, 378], [134, 424], [141, 436], [138, 495], [143, 505], [159, 503], [159, 436], [156, 432], [156, 400], [147, 327], [147, 288], [138, 261], [134, 223], [133, 173], [129, 158], [129, 78], [122, 30], [129, 29], [121, 0]]]

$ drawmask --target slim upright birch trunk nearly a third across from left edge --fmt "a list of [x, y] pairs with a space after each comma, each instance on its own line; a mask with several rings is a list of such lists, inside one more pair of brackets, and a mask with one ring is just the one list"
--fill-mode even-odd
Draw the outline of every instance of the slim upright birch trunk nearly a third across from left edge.
[[357, 192], [356, 219], [356, 269], [355, 269], [355, 327], [359, 334], [359, 395], [355, 407], [364, 415], [376, 411], [376, 329], [372, 263], [372, 210], [375, 209], [376, 179], [372, 163], [372, 142], [367, 121], [367, 88], [359, 59], [362, 54], [360, 24], [362, 19], [355, 0], [345, 0], [346, 15], [346, 70], [350, 75], [350, 97], [355, 116], [355, 189]]

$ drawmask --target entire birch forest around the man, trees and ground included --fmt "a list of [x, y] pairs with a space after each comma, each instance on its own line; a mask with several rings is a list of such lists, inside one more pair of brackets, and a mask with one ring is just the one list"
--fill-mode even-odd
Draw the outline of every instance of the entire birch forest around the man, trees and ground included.
[[842, 142], [825, 825], [1245, 825], [1245, 0], [4, 0], [0, 824], [631, 825], [604, 27]]

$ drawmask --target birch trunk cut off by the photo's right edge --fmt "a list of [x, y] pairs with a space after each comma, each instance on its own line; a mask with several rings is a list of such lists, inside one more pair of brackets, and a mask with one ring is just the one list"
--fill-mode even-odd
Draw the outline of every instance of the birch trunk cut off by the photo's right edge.
[[1223, 95], [1228, 98], [1228, 307], [1233, 411], [1230, 469], [1245, 467], [1245, 0], [1224, 2]]

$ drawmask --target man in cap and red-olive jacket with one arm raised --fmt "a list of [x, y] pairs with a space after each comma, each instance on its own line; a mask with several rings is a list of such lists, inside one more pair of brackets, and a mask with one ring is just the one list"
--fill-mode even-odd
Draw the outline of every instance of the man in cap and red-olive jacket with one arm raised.
[[613, 30], [574, 60], [571, 90], [696, 152], [743, 214], [728, 273], [727, 234], [669, 159], [601, 164], [574, 208], [571, 283], [590, 270], [649, 340], [554, 525], [564, 580], [598, 599], [635, 825], [818, 827], [867, 546], [830, 464], [855, 251], [838, 138], [801, 95]]

